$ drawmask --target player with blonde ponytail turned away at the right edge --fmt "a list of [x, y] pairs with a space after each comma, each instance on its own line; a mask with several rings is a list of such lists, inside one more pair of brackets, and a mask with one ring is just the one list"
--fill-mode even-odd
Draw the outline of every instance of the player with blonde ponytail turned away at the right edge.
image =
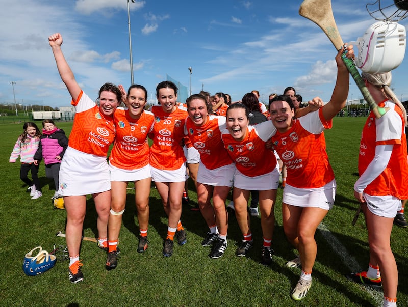
[[398, 270], [390, 237], [401, 200], [408, 198], [404, 130], [408, 122], [405, 108], [390, 89], [391, 72], [363, 73], [362, 78], [375, 102], [387, 112], [379, 119], [371, 112], [362, 132], [354, 197], [362, 203], [366, 218], [370, 263], [367, 271], [347, 277], [359, 284], [382, 286], [383, 306], [396, 306]]

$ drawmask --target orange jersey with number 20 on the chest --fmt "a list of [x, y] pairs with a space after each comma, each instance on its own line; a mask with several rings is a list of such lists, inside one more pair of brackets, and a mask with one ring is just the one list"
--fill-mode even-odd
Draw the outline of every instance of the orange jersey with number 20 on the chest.
[[160, 105], [154, 105], [151, 112], [155, 115], [155, 126], [151, 134], [150, 165], [160, 170], [178, 170], [186, 161], [181, 142], [187, 111], [176, 108], [172, 113], [165, 113]]

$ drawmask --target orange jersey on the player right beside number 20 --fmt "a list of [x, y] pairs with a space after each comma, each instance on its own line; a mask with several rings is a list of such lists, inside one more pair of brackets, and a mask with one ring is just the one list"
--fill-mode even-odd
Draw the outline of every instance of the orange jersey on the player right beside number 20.
[[202, 164], [209, 170], [230, 165], [233, 161], [224, 148], [221, 130], [225, 129], [225, 116], [209, 115], [207, 123], [197, 127], [190, 118], [186, 121], [187, 134], [193, 146], [200, 153]]

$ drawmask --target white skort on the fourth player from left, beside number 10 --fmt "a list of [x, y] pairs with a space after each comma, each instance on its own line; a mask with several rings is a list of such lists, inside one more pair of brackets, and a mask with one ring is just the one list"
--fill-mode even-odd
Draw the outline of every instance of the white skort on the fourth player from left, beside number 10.
[[221, 166], [218, 169], [209, 170], [200, 162], [198, 165], [197, 182], [213, 186], [233, 186], [235, 164]]

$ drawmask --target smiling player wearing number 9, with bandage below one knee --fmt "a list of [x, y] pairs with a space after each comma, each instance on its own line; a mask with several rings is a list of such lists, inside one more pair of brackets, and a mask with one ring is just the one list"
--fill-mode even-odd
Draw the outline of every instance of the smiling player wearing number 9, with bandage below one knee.
[[135, 184], [135, 204], [139, 222], [137, 251], [143, 253], [148, 247], [151, 174], [147, 134], [153, 129], [155, 116], [144, 110], [147, 102], [145, 87], [134, 84], [127, 90], [127, 94], [123, 86], [119, 85], [119, 89], [126, 107], [117, 108], [113, 116], [116, 136], [109, 156], [112, 202], [108, 221], [108, 257], [105, 265], [107, 270], [117, 266], [117, 244], [129, 181]]

